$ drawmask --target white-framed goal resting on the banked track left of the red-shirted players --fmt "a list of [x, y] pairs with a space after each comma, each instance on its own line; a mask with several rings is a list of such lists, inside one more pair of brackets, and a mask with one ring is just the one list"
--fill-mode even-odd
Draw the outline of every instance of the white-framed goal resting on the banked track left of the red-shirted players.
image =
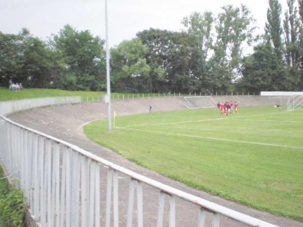
[[184, 97], [184, 105], [189, 109], [213, 108], [216, 102], [211, 96]]

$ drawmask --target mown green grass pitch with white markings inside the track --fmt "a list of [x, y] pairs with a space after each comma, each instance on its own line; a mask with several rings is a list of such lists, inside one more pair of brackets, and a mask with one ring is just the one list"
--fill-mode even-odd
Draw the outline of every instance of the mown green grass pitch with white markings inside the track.
[[222, 118], [215, 109], [154, 112], [117, 117], [111, 132], [106, 120], [84, 131], [193, 188], [303, 220], [303, 111], [243, 107]]

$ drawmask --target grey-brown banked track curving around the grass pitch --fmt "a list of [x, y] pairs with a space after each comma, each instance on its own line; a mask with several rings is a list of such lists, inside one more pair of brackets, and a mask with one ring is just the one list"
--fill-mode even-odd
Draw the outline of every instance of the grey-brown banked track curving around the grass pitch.
[[[186, 109], [186, 107], [183, 105], [182, 100], [179, 98], [153, 98], [136, 99], [129, 101], [114, 101], [113, 110], [115, 110], [120, 116], [132, 115], [134, 113], [147, 113], [149, 104], [153, 106], [153, 111]], [[198, 197], [207, 199], [209, 201], [218, 203], [220, 205], [254, 216], [256, 218], [260, 218], [262, 220], [268, 221], [279, 226], [303, 226], [303, 222], [298, 222], [289, 218], [278, 217], [272, 214], [268, 214], [266, 212], [251, 209], [249, 207], [224, 200], [208, 193], [192, 189], [184, 184], [161, 176], [153, 171], [149, 171], [144, 167], [138, 166], [135, 163], [128, 161], [121, 155], [98, 144], [93, 143], [92, 141], [86, 138], [82, 131], [82, 127], [83, 125], [93, 120], [105, 118], [106, 114], [107, 106], [105, 103], [81, 103], [75, 105], [48, 106], [39, 109], [32, 109], [24, 112], [15, 113], [14, 115], [9, 116], [9, 118], [30, 128], [39, 130], [43, 133], [75, 144], [100, 157], [103, 157], [109, 161], [131, 169], [134, 172], [140, 173], [146, 177], [160, 181], [164, 184], [170, 185], [172, 187], [196, 195]], [[120, 201], [124, 202], [124, 205], [122, 205], [123, 202], [120, 203], [121, 223], [125, 222], [128, 182], [128, 178], [121, 176], [121, 179], [119, 180], [119, 199]], [[155, 226], [159, 192], [153, 188], [146, 186], [143, 189], [143, 193], [143, 209], [145, 218], [144, 226]], [[197, 207], [179, 200], [176, 201], [176, 204], [177, 226], [195, 226], [197, 222]], [[211, 217], [211, 214], [207, 215], [206, 226], [211, 226]], [[224, 217], [221, 217], [220, 222], [221, 226], [247, 226]], [[167, 222], [165, 223], [165, 226], [167, 226]]]

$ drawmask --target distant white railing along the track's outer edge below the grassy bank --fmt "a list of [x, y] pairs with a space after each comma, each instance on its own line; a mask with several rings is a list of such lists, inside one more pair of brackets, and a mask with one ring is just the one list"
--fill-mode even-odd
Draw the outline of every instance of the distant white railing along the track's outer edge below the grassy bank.
[[26, 109], [32, 109], [47, 105], [68, 104], [81, 102], [81, 96], [62, 96], [62, 97], [46, 97], [31, 98], [0, 102], [0, 115], [17, 112]]

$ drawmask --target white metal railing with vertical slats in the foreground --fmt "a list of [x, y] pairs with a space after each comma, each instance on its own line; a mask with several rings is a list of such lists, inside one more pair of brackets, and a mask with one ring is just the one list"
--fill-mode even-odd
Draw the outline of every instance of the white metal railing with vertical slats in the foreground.
[[[30, 212], [41, 226], [109, 227], [112, 222], [118, 227], [121, 174], [130, 179], [127, 206], [124, 204], [126, 226], [132, 226], [135, 191], [136, 224], [143, 226], [143, 186], [146, 185], [159, 191], [159, 203], [155, 207], [157, 223], [150, 223], [151, 226], [164, 224], [165, 197], [169, 198], [170, 227], [176, 224], [176, 198], [199, 207], [196, 217], [199, 227], [205, 224], [206, 211], [213, 213], [214, 227], [219, 226], [220, 215], [249, 226], [276, 226], [151, 180], [3, 116], [0, 116], [0, 158], [13, 181], [24, 191]], [[103, 174], [104, 169], [107, 173]]]

